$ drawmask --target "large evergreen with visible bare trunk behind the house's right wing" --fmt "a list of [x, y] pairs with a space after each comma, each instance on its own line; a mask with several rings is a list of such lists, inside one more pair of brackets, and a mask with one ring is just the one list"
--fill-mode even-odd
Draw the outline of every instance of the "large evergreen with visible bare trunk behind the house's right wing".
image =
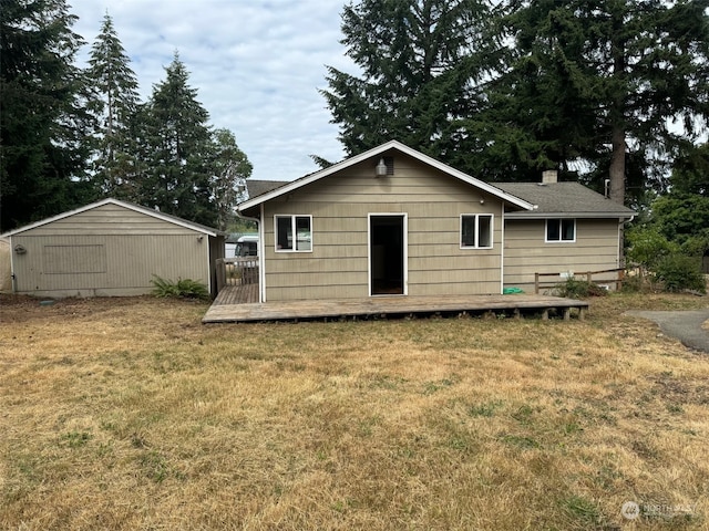
[[651, 167], [675, 152], [670, 122], [684, 124], [688, 139], [701, 131], [708, 0], [510, 0], [505, 7], [503, 39], [512, 44], [491, 101], [506, 129], [495, 143], [508, 138], [520, 148], [511, 160], [565, 169], [580, 158], [592, 175], [610, 177], [612, 198], [624, 202], [626, 188], [645, 190]]

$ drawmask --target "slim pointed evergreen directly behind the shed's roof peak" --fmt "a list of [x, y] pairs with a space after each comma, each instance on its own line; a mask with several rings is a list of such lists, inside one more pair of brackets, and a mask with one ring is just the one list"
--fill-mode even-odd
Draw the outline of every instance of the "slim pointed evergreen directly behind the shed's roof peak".
[[134, 199], [137, 178], [137, 80], [106, 13], [89, 59], [89, 79], [96, 97], [91, 110], [97, 129], [93, 181], [102, 195]]

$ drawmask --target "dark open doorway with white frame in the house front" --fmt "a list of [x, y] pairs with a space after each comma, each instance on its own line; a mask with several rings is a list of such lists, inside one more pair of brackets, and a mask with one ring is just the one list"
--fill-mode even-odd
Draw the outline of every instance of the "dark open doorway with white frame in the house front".
[[371, 216], [369, 235], [372, 295], [403, 295], [404, 216]]

